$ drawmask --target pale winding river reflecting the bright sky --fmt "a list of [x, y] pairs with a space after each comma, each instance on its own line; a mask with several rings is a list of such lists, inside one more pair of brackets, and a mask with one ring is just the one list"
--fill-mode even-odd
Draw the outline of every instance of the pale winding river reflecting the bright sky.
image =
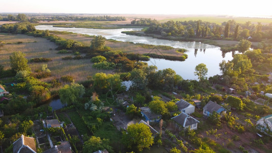
[[[186, 54], [188, 59], [183, 62], [170, 61], [164, 59], [150, 59], [147, 63], [149, 65], [155, 65], [159, 70], [165, 68], [172, 68], [177, 74], [181, 75], [183, 79], [197, 80], [197, 76], [194, 75], [195, 67], [200, 64], [206, 64], [208, 68], [207, 77], [211, 77], [216, 74], [220, 74], [219, 63], [222, 60], [232, 60], [232, 53], [226, 53], [224, 58], [220, 47], [204, 44], [201, 42], [180, 42], [171, 40], [162, 40], [145, 36], [134, 36], [122, 34], [122, 31], [135, 31], [142, 30], [142, 28], [123, 28], [123, 29], [86, 29], [86, 28], [60, 28], [53, 27], [52, 25], [37, 25], [37, 30], [50, 30], [50, 31], [67, 31], [78, 34], [87, 35], [102, 35], [106, 39], [115, 39], [124, 42], [144, 43], [152, 45], [167, 45], [175, 48], [185, 48], [188, 50]], [[160, 54], [159, 50], [152, 50], [150, 52]]]

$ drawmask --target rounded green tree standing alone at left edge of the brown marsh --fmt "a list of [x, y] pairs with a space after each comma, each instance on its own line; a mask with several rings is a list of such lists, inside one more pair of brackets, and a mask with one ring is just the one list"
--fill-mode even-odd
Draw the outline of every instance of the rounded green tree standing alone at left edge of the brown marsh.
[[17, 71], [30, 71], [30, 67], [28, 65], [28, 59], [26, 59], [25, 54], [22, 52], [13, 52], [12, 55], [10, 56], [10, 64], [11, 64], [11, 69], [14, 72]]

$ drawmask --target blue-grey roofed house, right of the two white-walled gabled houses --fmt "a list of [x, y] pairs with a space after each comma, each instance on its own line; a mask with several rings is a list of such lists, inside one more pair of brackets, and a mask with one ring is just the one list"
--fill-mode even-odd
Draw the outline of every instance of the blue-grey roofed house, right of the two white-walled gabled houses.
[[227, 110], [224, 107], [214, 103], [213, 101], [209, 101], [209, 103], [203, 107], [203, 115], [209, 116], [212, 112], [220, 114], [222, 112], [226, 113]]

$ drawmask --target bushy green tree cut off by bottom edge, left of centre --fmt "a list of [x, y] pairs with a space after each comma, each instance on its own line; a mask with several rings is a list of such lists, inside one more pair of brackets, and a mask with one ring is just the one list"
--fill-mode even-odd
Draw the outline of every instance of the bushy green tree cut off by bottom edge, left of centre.
[[113, 152], [112, 147], [109, 145], [110, 140], [103, 139], [100, 137], [92, 136], [88, 141], [84, 142], [83, 152], [95, 152], [97, 150], [107, 149], [108, 152]]

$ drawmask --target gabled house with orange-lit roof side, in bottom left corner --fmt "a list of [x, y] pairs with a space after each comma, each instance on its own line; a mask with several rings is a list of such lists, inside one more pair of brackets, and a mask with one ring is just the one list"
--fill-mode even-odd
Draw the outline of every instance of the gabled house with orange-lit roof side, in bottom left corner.
[[25, 137], [21, 135], [21, 137], [13, 142], [13, 153], [19, 152], [37, 152], [35, 138]]

